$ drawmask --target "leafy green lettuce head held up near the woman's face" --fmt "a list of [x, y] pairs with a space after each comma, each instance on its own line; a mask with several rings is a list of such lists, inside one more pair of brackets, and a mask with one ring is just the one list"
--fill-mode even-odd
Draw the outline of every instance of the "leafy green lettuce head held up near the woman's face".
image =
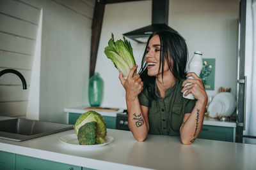
[[[125, 37], [124, 41], [119, 39], [115, 42], [114, 35], [111, 34], [111, 39], [109, 39], [108, 46], [106, 46], [104, 53], [108, 59], [111, 59], [116, 69], [123, 74], [124, 78], [127, 78], [130, 69], [136, 65], [131, 43], [127, 41]], [[134, 74], [136, 74], [136, 72]]]

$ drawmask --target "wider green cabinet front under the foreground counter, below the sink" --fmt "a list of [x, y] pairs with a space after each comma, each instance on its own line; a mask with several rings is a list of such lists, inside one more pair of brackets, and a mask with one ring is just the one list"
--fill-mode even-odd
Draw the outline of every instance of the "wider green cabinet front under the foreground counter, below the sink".
[[60, 162], [53, 162], [50, 160], [38, 159], [35, 157], [28, 157], [24, 155], [16, 154], [15, 162], [16, 170], [81, 170], [79, 166], [73, 166], [69, 164], [63, 164]]

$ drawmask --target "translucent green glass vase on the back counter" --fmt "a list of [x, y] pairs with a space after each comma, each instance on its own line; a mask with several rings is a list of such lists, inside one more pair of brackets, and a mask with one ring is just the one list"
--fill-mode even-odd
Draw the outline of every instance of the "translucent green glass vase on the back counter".
[[103, 99], [103, 80], [99, 73], [94, 73], [89, 80], [89, 103], [93, 107], [100, 106]]

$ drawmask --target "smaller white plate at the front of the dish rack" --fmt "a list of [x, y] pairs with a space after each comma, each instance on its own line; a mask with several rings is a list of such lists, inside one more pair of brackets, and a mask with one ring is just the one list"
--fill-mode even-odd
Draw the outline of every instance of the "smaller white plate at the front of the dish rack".
[[224, 110], [225, 105], [222, 101], [212, 101], [208, 107], [209, 116], [212, 118], [222, 115]]

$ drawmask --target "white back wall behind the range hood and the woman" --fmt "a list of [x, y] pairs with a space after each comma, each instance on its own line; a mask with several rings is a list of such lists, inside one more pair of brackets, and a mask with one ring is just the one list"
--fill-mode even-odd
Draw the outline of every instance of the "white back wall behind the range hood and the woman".
[[[151, 1], [106, 5], [95, 68], [104, 80], [102, 106], [126, 107], [118, 71], [104, 55], [111, 32], [120, 39], [125, 32], [150, 25], [151, 8]], [[215, 90], [207, 90], [209, 96], [217, 94], [221, 86], [231, 87], [236, 96], [238, 18], [239, 0], [170, 0], [168, 25], [186, 39], [190, 57], [200, 50], [204, 58], [216, 59]], [[131, 45], [140, 68], [145, 45], [132, 40]]]

